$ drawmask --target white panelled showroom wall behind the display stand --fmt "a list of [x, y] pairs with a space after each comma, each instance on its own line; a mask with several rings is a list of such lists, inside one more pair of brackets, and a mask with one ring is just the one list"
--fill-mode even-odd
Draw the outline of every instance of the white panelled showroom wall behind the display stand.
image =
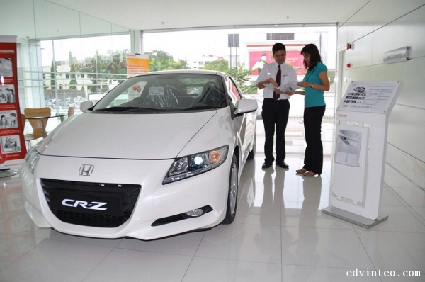
[[[346, 50], [346, 81], [402, 81], [390, 115], [387, 163], [425, 189], [425, 0], [370, 0], [339, 23], [338, 52]], [[384, 64], [384, 53], [411, 46], [411, 60]], [[350, 63], [351, 68], [346, 64]]]

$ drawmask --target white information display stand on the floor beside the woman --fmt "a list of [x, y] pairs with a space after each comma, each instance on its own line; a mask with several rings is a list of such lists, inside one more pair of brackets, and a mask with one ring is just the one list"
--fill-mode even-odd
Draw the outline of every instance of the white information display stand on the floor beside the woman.
[[336, 108], [331, 205], [323, 213], [370, 228], [386, 220], [380, 202], [390, 112], [401, 81], [353, 81]]

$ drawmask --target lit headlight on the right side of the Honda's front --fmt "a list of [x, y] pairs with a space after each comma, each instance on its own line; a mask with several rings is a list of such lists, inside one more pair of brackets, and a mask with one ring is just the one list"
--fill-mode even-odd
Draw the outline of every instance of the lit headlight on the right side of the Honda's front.
[[229, 146], [225, 145], [210, 151], [175, 159], [162, 184], [187, 179], [188, 177], [215, 169], [225, 162], [228, 150]]

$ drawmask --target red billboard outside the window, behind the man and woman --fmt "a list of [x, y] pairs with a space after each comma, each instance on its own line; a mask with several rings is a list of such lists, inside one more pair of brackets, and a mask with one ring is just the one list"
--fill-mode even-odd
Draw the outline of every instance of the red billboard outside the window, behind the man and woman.
[[[297, 75], [305, 75], [305, 72], [307, 72], [304, 64], [302, 64], [303, 60], [304, 57], [302, 57], [300, 51], [286, 52], [285, 63], [292, 66], [295, 69], [295, 72], [297, 72]], [[263, 64], [271, 62], [274, 62], [273, 52], [271, 52], [271, 50], [249, 52], [249, 68], [254, 71], [251, 75], [258, 75]]]

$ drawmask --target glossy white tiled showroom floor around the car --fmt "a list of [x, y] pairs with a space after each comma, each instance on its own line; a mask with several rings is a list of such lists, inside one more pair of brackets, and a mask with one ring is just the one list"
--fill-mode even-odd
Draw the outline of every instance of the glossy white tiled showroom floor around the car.
[[[290, 128], [290, 169], [262, 170], [259, 145], [242, 174], [232, 225], [151, 242], [40, 230], [25, 213], [18, 176], [0, 179], [0, 281], [425, 281], [424, 190], [387, 166], [382, 214], [388, 220], [366, 230], [326, 215], [331, 157], [322, 176], [296, 175], [302, 125]], [[332, 128], [324, 124], [325, 148]], [[261, 130], [260, 120], [258, 140]], [[371, 277], [372, 271], [382, 276]]]

